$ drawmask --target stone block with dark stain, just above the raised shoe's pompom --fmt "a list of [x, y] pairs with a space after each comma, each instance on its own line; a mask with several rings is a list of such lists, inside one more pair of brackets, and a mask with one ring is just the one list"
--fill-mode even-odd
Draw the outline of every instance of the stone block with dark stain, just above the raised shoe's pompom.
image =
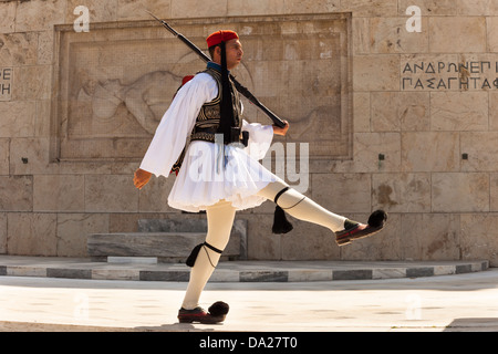
[[374, 174], [372, 208], [388, 212], [429, 212], [429, 174]]

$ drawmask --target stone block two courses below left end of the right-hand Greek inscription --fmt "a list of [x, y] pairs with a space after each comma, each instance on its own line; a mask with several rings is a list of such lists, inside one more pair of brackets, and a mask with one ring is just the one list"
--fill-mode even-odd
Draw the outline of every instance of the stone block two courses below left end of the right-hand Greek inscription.
[[458, 171], [457, 132], [409, 132], [402, 134], [403, 171]]

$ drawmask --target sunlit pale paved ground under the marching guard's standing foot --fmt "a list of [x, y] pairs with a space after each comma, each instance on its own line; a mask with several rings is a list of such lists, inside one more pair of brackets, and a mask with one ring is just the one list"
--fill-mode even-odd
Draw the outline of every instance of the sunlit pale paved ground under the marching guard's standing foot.
[[221, 325], [179, 324], [186, 282], [0, 277], [1, 331], [498, 331], [498, 269], [423, 278], [209, 282]]

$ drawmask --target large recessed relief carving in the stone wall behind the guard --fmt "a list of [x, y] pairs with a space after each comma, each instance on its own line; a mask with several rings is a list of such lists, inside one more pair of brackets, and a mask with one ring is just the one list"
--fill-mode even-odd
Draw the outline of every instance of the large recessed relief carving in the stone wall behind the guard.
[[[310, 158], [347, 158], [349, 21], [341, 14], [291, 15], [184, 20], [175, 27], [201, 49], [210, 32], [236, 30], [245, 60], [234, 74], [291, 123], [287, 142], [310, 143]], [[53, 159], [139, 159], [181, 77], [205, 67], [154, 21], [97, 23], [89, 33], [56, 27], [56, 34]], [[271, 124], [243, 104], [249, 122]]]

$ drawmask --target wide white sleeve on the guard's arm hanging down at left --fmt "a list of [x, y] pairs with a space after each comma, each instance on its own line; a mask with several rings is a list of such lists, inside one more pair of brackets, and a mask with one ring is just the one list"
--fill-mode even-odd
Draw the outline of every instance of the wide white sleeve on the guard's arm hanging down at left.
[[169, 176], [185, 147], [200, 107], [218, 94], [218, 85], [208, 74], [197, 74], [176, 94], [157, 126], [141, 168], [158, 176]]

